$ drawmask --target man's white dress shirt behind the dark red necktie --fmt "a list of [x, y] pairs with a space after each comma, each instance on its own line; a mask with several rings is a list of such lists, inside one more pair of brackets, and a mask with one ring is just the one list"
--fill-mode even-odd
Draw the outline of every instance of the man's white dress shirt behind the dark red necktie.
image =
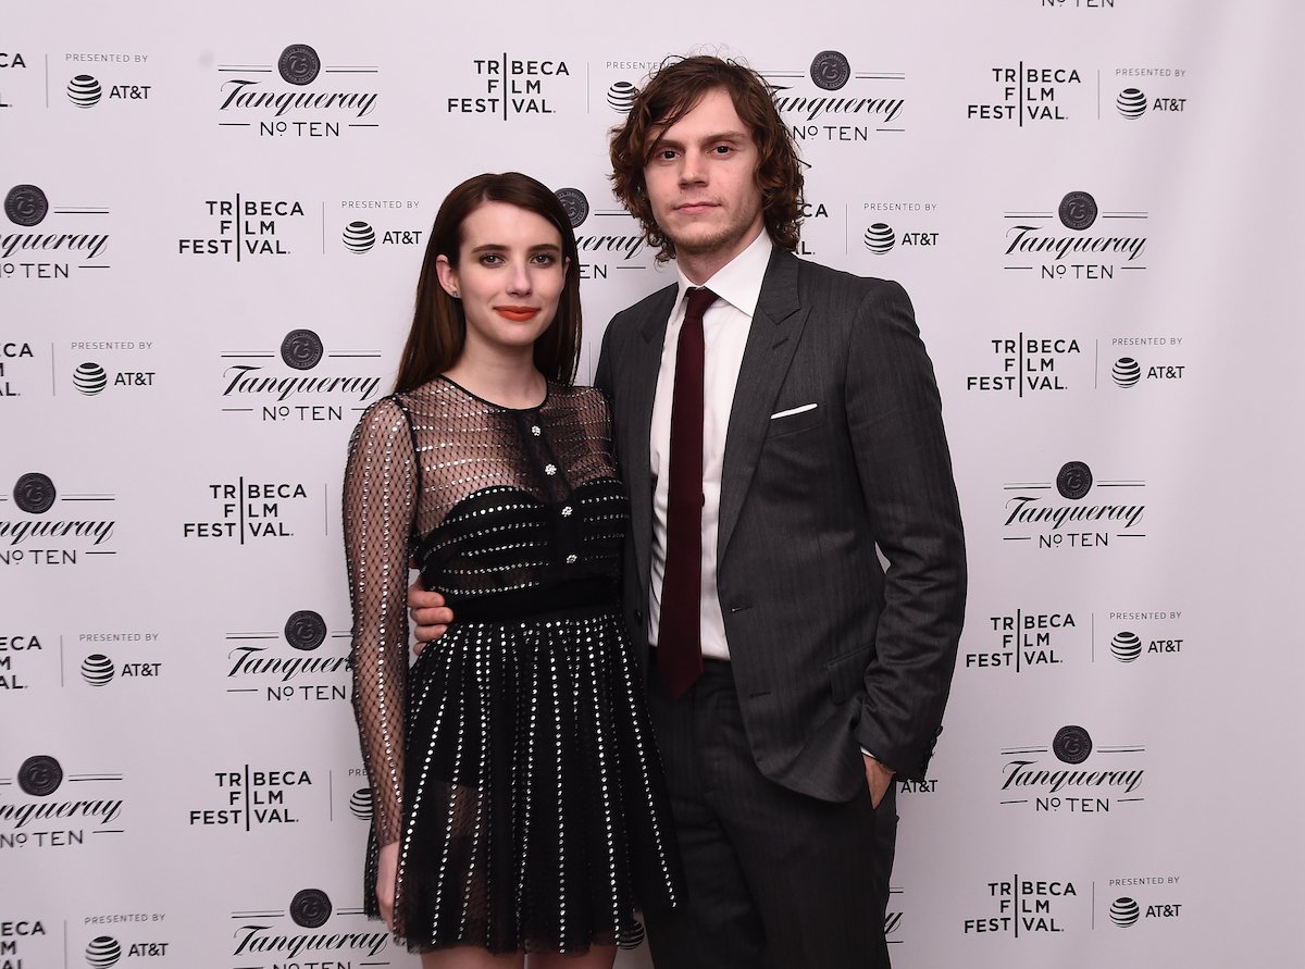
[[[729, 430], [743, 351], [757, 312], [761, 282], [770, 262], [773, 243], [762, 231], [703, 286], [718, 299], [702, 316], [706, 355], [702, 373], [702, 656], [728, 659], [726, 624], [716, 596], [716, 522], [720, 517], [720, 468]], [[649, 458], [652, 469], [652, 593], [649, 602], [649, 637], [655, 645], [662, 622], [662, 576], [666, 572], [666, 505], [671, 458], [671, 400], [675, 393], [675, 357], [684, 323], [685, 290], [694, 286], [680, 273], [680, 293], [662, 343], [662, 370], [652, 401]]]

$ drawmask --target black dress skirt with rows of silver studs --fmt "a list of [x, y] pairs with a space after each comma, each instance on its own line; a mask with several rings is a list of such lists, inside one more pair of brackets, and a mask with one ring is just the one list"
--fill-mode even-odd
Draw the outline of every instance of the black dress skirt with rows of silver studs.
[[[683, 878], [613, 606], [459, 622], [408, 671], [395, 934], [414, 952], [633, 947]], [[372, 891], [376, 838], [368, 851]]]

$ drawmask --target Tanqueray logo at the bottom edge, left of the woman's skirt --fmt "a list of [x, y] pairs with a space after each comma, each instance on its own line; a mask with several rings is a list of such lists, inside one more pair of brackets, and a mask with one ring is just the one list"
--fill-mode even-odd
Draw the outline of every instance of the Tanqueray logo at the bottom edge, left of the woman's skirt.
[[389, 948], [385, 926], [368, 922], [361, 908], [334, 908], [320, 888], [295, 892], [288, 910], [232, 912], [231, 918], [236, 923], [231, 956], [240, 969], [264, 969], [264, 962], [268, 969], [390, 964], [378, 959]]

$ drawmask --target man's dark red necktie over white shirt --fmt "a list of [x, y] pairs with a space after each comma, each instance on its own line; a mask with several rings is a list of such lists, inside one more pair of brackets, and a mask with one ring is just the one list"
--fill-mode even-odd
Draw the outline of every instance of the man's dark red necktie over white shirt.
[[702, 675], [702, 313], [716, 302], [709, 289], [690, 289], [675, 350], [671, 457], [666, 507], [666, 569], [656, 667], [680, 696]]

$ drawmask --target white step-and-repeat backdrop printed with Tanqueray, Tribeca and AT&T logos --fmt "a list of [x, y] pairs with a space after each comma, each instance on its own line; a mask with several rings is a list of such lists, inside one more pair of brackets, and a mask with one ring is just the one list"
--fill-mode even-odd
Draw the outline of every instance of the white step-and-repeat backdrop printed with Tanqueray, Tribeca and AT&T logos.
[[[415, 966], [361, 914], [345, 448], [427, 234], [555, 188], [609, 316], [673, 278], [606, 140], [744, 59], [803, 253], [910, 291], [972, 588], [899, 797], [895, 965], [1297, 966], [1288, 0], [10, 3], [0, 966]], [[647, 966], [645, 951], [620, 966]]]

